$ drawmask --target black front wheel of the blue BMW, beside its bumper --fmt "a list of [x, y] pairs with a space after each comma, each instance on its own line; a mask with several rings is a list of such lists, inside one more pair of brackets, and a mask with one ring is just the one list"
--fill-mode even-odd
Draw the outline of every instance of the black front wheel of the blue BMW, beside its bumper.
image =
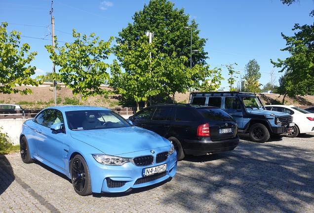
[[84, 158], [81, 155], [76, 155], [71, 160], [70, 169], [72, 184], [76, 193], [82, 196], [90, 195], [92, 193], [91, 180]]

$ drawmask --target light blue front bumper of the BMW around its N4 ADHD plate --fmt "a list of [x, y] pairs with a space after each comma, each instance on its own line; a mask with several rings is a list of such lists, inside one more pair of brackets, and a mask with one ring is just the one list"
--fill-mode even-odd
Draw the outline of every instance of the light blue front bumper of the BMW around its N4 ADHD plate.
[[[92, 192], [125, 192], [130, 188], [140, 188], [162, 182], [173, 177], [177, 171], [177, 153], [169, 155], [168, 159], [161, 163], [154, 163], [149, 166], [135, 166], [131, 162], [121, 166], [107, 166], [98, 163], [92, 155], [87, 160], [92, 162], [88, 165]], [[156, 167], [158, 165], [167, 165], [163, 173], [157, 173], [151, 176], [142, 176], [143, 169]]]

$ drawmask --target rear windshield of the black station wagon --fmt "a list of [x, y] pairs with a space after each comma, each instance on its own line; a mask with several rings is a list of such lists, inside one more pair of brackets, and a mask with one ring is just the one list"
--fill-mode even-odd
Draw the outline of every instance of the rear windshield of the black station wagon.
[[220, 108], [196, 108], [197, 111], [210, 121], [234, 121], [234, 118]]

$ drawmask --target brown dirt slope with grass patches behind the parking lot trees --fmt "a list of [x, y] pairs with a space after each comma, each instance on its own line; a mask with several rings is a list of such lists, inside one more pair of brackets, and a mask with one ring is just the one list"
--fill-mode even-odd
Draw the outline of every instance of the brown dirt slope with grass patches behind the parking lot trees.
[[[0, 94], [0, 103], [8, 103], [8, 104], [20, 104], [23, 108], [44, 108], [46, 106], [54, 106], [54, 88], [50, 87], [50, 84], [45, 84], [39, 87], [29, 87], [29, 86], [21, 86], [20, 89], [30, 88], [33, 91], [32, 95], [20, 95], [17, 94]], [[108, 87], [103, 87], [104, 89], [110, 90]], [[66, 99], [71, 100], [79, 100], [79, 96], [74, 96], [72, 94], [72, 90], [69, 88], [65, 88], [61, 86], [60, 90], [56, 91], [57, 100], [60, 100], [60, 103], [57, 105], [65, 105]], [[282, 96], [278, 94], [259, 94], [262, 98], [265, 105], [268, 104], [281, 104]], [[89, 97], [87, 101], [83, 101], [83, 105], [89, 106], [103, 106], [103, 107], [122, 107], [119, 105], [120, 100], [119, 95], [108, 95], [108, 96], [96, 96]], [[189, 93], [175, 94], [175, 101], [177, 103], [188, 103], [189, 101]], [[163, 102], [163, 100], [158, 100], [158, 102]], [[166, 100], [166, 102], [171, 102], [171, 98]], [[314, 96], [298, 96], [296, 99], [285, 98], [285, 105], [294, 105], [301, 108], [305, 108], [305, 106], [314, 106]], [[127, 106], [127, 107], [135, 107], [135, 106]], [[140, 106], [143, 107], [143, 106]]]

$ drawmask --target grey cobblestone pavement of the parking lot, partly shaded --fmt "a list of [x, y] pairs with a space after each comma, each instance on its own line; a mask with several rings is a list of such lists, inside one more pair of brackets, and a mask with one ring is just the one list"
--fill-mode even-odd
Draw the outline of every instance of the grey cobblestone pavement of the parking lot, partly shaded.
[[18, 154], [0, 157], [4, 213], [314, 213], [314, 134], [188, 156], [171, 181], [119, 194], [79, 196], [71, 181]]

